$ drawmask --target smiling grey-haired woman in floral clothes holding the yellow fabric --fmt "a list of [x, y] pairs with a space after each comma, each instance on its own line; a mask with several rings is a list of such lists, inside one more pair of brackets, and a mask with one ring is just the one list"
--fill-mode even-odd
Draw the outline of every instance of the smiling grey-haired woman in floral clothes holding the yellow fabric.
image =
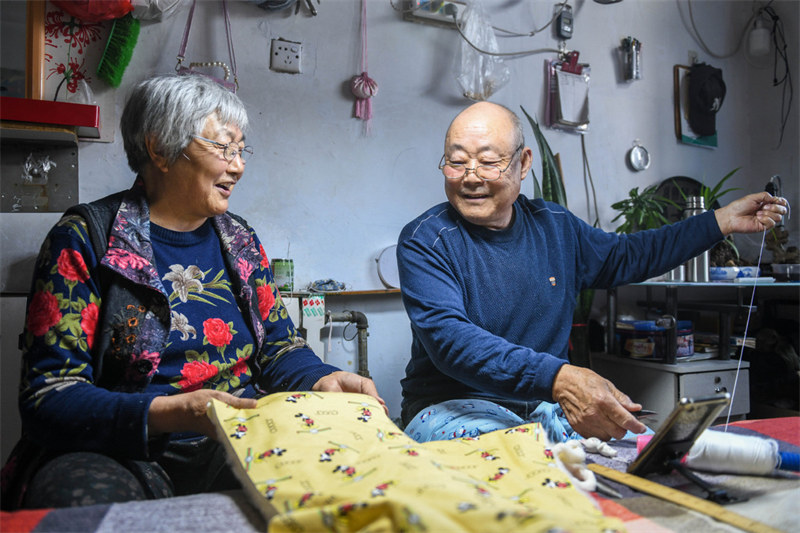
[[202, 76], [155, 77], [120, 124], [133, 187], [70, 209], [36, 264], [6, 508], [238, 487], [209, 438], [211, 398], [378, 398], [297, 335], [261, 242], [228, 212], [253, 155], [239, 98]]

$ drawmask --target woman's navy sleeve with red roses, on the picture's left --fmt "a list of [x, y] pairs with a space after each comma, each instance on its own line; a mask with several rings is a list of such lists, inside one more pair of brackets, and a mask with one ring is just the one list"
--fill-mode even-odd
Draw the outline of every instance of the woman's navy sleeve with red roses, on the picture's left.
[[42, 245], [21, 339], [23, 431], [51, 449], [149, 458], [147, 411], [156, 395], [93, 383], [91, 349], [102, 305], [97, 264], [80, 217], [62, 218]]

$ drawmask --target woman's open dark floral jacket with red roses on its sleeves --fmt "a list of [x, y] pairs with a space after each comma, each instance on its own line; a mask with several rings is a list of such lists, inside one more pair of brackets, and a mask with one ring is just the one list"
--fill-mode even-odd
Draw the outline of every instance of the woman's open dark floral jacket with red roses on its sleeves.
[[[129, 191], [91, 204], [108, 213], [109, 222], [113, 218], [110, 233], [103, 222], [94, 223], [92, 235], [91, 217], [70, 210], [42, 245], [20, 337], [19, 396], [23, 432], [40, 446], [152, 460], [166, 443], [148, 445], [150, 402], [163, 394], [148, 384], [175, 324], [154, 265], [143, 190], [137, 180]], [[338, 370], [297, 336], [254, 230], [228, 213], [215, 217], [213, 226], [256, 341], [242, 356], [248, 371], [239, 388], [309, 390]], [[92, 237], [104, 242], [98, 234], [109, 235], [101, 257], [92, 246]], [[217, 383], [215, 377], [203, 386], [236, 392], [230, 380]]]

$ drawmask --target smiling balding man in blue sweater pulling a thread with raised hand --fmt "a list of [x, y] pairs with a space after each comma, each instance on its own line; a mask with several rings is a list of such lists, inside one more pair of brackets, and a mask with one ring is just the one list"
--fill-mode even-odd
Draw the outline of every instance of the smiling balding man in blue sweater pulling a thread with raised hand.
[[[450, 124], [439, 168], [448, 202], [400, 234], [397, 259], [413, 333], [402, 381], [418, 441], [542, 422], [551, 441], [621, 438], [641, 406], [568, 364], [576, 296], [662, 274], [734, 232], [786, 213], [766, 192], [659, 230], [617, 235], [520, 195], [531, 167], [519, 118], [489, 102]], [[555, 403], [552, 403], [555, 402]]]

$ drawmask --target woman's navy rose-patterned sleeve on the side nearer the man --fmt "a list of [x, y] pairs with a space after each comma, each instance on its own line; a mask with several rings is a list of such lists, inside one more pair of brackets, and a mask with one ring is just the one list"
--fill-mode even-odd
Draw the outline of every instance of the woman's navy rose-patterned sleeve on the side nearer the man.
[[258, 236], [250, 230], [261, 262], [253, 273], [258, 296], [258, 312], [266, 330], [259, 364], [264, 372], [259, 385], [266, 392], [310, 390], [321, 377], [339, 370], [323, 363], [295, 329], [275, 285], [269, 259]]

